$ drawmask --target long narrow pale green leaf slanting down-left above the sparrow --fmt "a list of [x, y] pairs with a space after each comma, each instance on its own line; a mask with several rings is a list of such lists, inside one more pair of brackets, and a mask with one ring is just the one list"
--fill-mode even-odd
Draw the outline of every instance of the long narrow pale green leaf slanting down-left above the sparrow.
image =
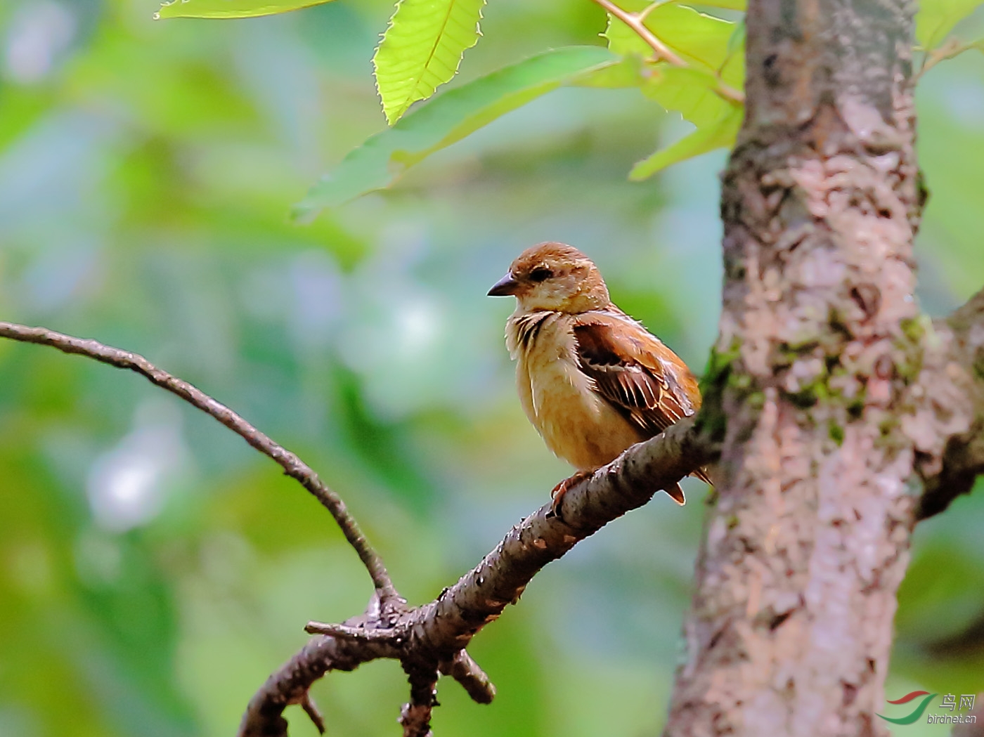
[[389, 187], [413, 164], [510, 110], [564, 85], [604, 84], [603, 73], [624, 63], [599, 46], [569, 46], [443, 92], [345, 156], [295, 206], [293, 215], [306, 219], [323, 208]]

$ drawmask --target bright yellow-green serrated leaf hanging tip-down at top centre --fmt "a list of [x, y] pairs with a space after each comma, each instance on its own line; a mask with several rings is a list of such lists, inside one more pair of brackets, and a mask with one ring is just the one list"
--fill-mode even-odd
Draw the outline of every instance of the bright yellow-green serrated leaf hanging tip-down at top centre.
[[393, 125], [458, 72], [464, 49], [478, 42], [485, 0], [400, 0], [376, 55], [376, 87]]

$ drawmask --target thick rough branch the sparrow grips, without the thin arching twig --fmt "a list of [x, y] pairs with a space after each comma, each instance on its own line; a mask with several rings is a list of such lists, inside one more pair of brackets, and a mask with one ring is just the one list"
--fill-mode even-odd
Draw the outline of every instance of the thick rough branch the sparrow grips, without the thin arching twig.
[[[458, 583], [434, 601], [401, 614], [383, 631], [385, 636], [367, 620], [327, 626], [326, 631], [343, 639], [313, 639], [271, 676], [250, 702], [239, 737], [283, 737], [286, 724], [280, 711], [300, 703], [299, 695], [306, 694], [327, 670], [351, 670], [379, 657], [399, 659], [408, 668], [417, 696], [404, 706], [401, 723], [404, 730], [417, 731], [406, 734], [427, 733], [420, 730], [429, 725], [430, 707], [424, 694], [430, 688], [432, 667], [452, 675], [475, 702], [490, 703], [495, 688], [463, 649], [471, 639], [519, 600], [543, 566], [606, 523], [643, 506], [660, 489], [714, 461], [717, 453], [717, 443], [697, 418], [683, 420], [572, 487], [563, 497], [559, 516], [546, 504], [517, 524]], [[272, 724], [282, 724], [282, 730], [263, 731]]]

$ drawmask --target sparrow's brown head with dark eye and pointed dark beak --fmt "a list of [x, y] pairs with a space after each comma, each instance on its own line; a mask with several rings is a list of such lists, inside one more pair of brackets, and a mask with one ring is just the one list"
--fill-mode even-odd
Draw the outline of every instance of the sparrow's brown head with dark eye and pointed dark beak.
[[608, 287], [594, 263], [577, 248], [539, 243], [513, 262], [489, 289], [490, 297], [514, 295], [525, 312], [581, 313], [605, 307]]

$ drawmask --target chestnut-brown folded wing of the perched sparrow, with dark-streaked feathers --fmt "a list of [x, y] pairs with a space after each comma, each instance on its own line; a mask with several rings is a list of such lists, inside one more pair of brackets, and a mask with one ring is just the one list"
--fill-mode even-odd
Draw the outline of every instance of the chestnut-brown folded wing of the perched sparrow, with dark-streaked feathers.
[[[644, 434], [658, 435], [700, 408], [697, 379], [659, 338], [616, 310], [578, 316], [574, 337], [581, 370], [626, 419]], [[710, 483], [704, 471], [695, 475]]]

